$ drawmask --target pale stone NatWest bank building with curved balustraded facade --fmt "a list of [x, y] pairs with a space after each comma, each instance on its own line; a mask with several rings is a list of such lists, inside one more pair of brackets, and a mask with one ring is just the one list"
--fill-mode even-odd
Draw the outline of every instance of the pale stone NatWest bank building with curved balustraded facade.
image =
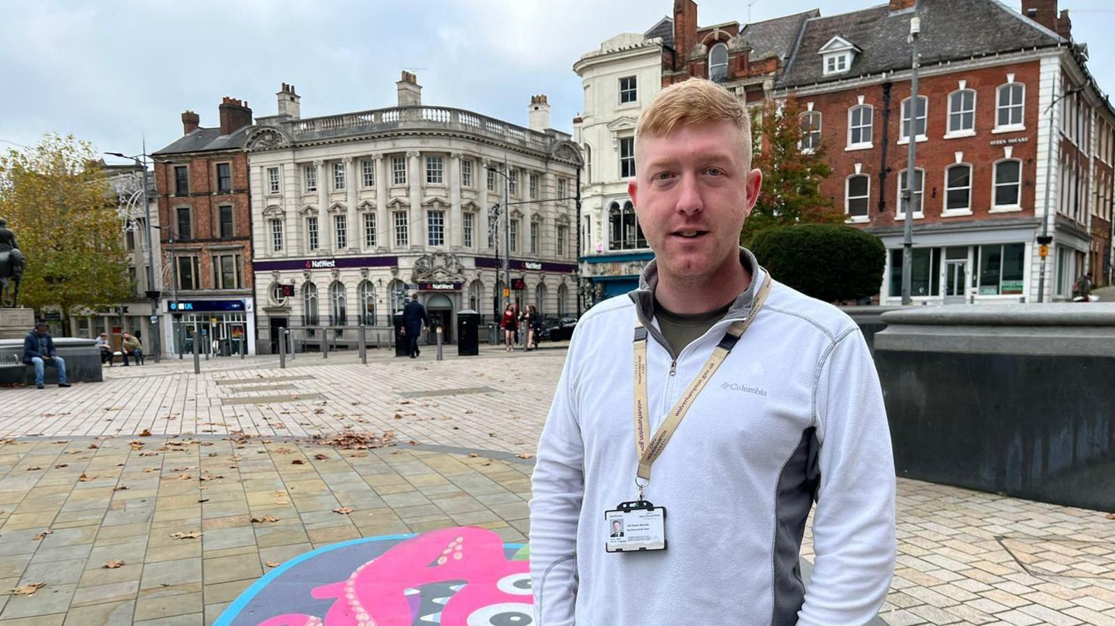
[[273, 348], [280, 326], [307, 327], [297, 334], [309, 344], [321, 336], [309, 327], [323, 325], [347, 326], [329, 331], [340, 344], [360, 324], [386, 340], [411, 292], [453, 341], [458, 311], [491, 320], [505, 302], [496, 268], [507, 238], [511, 300], [574, 313], [581, 157], [549, 128], [545, 96], [523, 128], [423, 105], [409, 72], [397, 89], [397, 107], [302, 119], [283, 85], [278, 115], [248, 137], [259, 332]]

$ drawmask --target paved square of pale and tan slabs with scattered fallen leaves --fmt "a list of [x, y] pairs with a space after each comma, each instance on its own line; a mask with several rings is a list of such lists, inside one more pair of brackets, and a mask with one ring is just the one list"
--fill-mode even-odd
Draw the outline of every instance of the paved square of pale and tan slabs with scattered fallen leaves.
[[[565, 355], [545, 348], [220, 359], [200, 376], [148, 361], [0, 390], [0, 624], [212, 624], [338, 541], [450, 526], [525, 541]], [[1106, 513], [903, 479], [898, 507], [886, 623], [1115, 625]]]

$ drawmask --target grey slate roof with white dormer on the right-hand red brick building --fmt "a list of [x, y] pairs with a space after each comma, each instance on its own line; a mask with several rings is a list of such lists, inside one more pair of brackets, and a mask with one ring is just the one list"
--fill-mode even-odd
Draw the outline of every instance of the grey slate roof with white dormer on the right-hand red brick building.
[[[923, 65], [1066, 42], [997, 0], [921, 0], [918, 4], [917, 13], [921, 18], [918, 51]], [[908, 69], [910, 45], [906, 36], [911, 17], [911, 11], [891, 14], [889, 6], [881, 4], [807, 20], [778, 86], [795, 87]], [[837, 35], [863, 51], [855, 56], [851, 71], [825, 77], [817, 50]]]

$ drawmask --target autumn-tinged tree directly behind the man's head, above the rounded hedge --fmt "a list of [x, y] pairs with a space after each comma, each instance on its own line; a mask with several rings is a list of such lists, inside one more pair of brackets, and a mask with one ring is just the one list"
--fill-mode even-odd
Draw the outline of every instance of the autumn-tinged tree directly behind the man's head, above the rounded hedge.
[[832, 174], [825, 145], [801, 148], [808, 111], [791, 97], [769, 101], [752, 124], [752, 141], [758, 148], [753, 166], [763, 172], [763, 187], [740, 242], [749, 245], [756, 233], [792, 224], [841, 224], [846, 216], [821, 194], [821, 180]]

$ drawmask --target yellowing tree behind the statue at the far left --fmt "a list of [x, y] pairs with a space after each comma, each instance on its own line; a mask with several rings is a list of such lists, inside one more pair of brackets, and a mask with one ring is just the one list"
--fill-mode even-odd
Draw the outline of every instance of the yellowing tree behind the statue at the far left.
[[91, 144], [47, 134], [0, 156], [0, 216], [27, 257], [21, 303], [68, 317], [129, 297], [115, 195]]

